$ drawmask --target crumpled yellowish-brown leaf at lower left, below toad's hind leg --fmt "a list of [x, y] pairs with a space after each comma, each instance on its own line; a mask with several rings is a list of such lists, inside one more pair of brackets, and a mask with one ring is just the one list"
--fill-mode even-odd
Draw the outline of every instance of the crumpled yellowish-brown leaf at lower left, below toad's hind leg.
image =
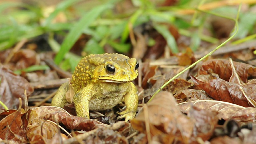
[[27, 137], [30, 143], [47, 143], [59, 132], [56, 124], [66, 116], [64, 109], [54, 106], [42, 106], [28, 111]]

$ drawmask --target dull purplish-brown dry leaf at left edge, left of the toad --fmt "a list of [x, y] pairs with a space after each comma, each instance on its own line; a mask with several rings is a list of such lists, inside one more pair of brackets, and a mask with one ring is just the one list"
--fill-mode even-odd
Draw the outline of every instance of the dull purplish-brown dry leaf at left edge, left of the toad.
[[[0, 100], [8, 108], [17, 108], [19, 105], [19, 98], [21, 98], [24, 107], [24, 104], [27, 101], [25, 100], [24, 90], [26, 90], [27, 96], [29, 96], [34, 92], [34, 88], [25, 78], [14, 74], [11, 70], [4, 68], [2, 65], [0, 65], [0, 77]], [[0, 109], [3, 109], [2, 105], [0, 105]]]

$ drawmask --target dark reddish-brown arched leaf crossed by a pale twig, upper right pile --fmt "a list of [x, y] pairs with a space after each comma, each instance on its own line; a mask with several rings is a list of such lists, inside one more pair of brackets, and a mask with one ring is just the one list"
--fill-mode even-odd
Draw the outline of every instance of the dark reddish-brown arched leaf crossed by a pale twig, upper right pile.
[[[248, 77], [256, 76], [256, 67], [250, 64], [244, 64], [241, 62], [233, 62], [233, 63], [238, 76], [240, 76], [243, 82], [247, 82]], [[229, 60], [224, 60], [224, 59], [207, 60], [199, 68], [198, 75], [209, 74], [211, 72], [218, 74], [221, 79], [229, 81], [232, 75], [232, 67]]]

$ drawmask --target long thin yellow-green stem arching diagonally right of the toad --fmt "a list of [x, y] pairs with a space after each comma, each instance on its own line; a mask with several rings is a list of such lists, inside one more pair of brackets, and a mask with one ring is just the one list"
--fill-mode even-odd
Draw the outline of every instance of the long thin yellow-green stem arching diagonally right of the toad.
[[[176, 76], [174, 76], [173, 78], [171, 78], [170, 80], [168, 80], [168, 82], [166, 82], [163, 86], [161, 86], [154, 94], [153, 96], [150, 98], [150, 100], [148, 102], [150, 102], [154, 96], [156, 96], [156, 94], [158, 92], [160, 92], [167, 84], [169, 84], [172, 80], [174, 80], [175, 78], [177, 78], [178, 76], [180, 76], [180, 74], [182, 74], [183, 72], [185, 72], [186, 70], [189, 70], [190, 68], [192, 68], [193, 66], [195, 66], [196, 64], [198, 64], [198, 62], [201, 62], [202, 60], [204, 60], [205, 58], [207, 58], [208, 56], [212, 55], [216, 50], [218, 50], [220, 47], [222, 47], [224, 44], [226, 44], [228, 41], [230, 41], [232, 38], [234, 38], [234, 36], [237, 34], [238, 32], [238, 18], [239, 18], [239, 13], [240, 13], [240, 9], [241, 9], [241, 4], [239, 5], [238, 8], [238, 12], [236, 15], [236, 19], [234, 20], [233, 18], [228, 18], [231, 20], [235, 21], [235, 31], [234, 34], [232, 36], [230, 36], [230, 38], [228, 38], [225, 42], [223, 42], [222, 44], [220, 44], [219, 46], [217, 46], [214, 50], [212, 50], [211, 52], [209, 52], [208, 54], [206, 54], [204, 57], [200, 58], [198, 61], [194, 62], [194, 64], [188, 66], [187, 68], [185, 68], [184, 70], [182, 70], [181, 72], [179, 72], [178, 74], [176, 74]], [[199, 10], [202, 11], [202, 10]], [[223, 16], [222, 16], [223, 17]]]

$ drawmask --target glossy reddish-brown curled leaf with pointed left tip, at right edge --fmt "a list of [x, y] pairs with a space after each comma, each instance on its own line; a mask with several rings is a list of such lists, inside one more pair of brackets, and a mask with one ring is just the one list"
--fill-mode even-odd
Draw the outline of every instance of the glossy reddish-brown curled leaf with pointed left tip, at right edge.
[[[214, 100], [230, 102], [244, 107], [252, 107], [246, 97], [256, 101], [256, 92], [235, 83], [227, 82], [220, 78], [201, 82], [194, 76], [190, 76], [194, 84], [202, 88]], [[246, 94], [246, 96], [244, 95]]]

